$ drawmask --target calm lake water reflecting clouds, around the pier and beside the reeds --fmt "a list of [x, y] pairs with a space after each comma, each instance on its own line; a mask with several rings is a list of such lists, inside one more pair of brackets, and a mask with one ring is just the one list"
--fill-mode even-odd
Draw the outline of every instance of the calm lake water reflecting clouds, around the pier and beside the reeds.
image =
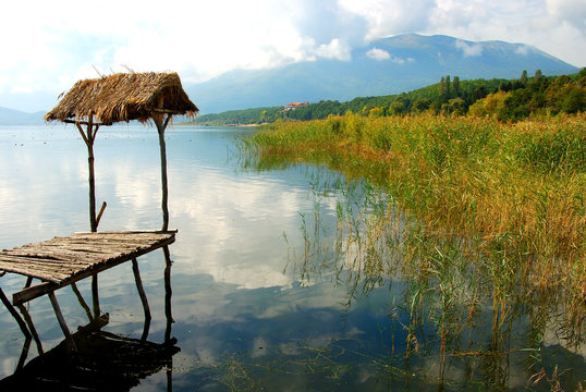
[[[481, 315], [450, 342], [462, 350], [445, 356], [432, 322], [408, 327], [410, 282], [327, 268], [332, 249], [323, 244], [334, 243], [340, 200], [362, 196], [349, 195], [352, 186], [323, 168], [246, 167], [236, 143], [252, 132], [167, 131], [170, 226], [179, 230], [170, 246], [171, 335], [181, 351], [120, 390], [549, 390], [557, 381], [573, 390], [581, 380], [586, 387], [585, 345], [567, 344], [554, 317], [536, 330], [530, 309], [515, 308], [496, 331], [486, 298]], [[102, 127], [95, 156], [97, 204], [108, 203], [99, 230], [159, 229], [156, 130]], [[87, 152], [75, 127], [0, 127], [1, 248], [87, 231]], [[307, 262], [317, 256], [319, 262]], [[152, 314], [148, 341], [161, 343], [164, 257], [156, 250], [138, 261]], [[9, 296], [24, 282], [0, 278]], [[90, 302], [89, 280], [78, 287]], [[109, 314], [102, 331], [139, 339], [144, 315], [131, 264], [100, 273], [99, 293]], [[70, 287], [57, 297], [70, 330], [88, 323]], [[45, 351], [57, 346], [63, 334], [49, 299], [27, 308]], [[23, 344], [1, 307], [0, 379], [14, 372]], [[37, 355], [33, 343], [27, 360]]]

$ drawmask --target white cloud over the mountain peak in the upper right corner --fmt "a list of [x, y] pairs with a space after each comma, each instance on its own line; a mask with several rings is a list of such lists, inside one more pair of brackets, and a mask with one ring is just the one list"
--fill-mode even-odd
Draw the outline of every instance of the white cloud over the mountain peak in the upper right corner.
[[[368, 41], [403, 33], [504, 40], [537, 47], [576, 66], [586, 65], [583, 0], [340, 0], [368, 22]], [[478, 50], [478, 49], [474, 49]], [[469, 54], [474, 53], [468, 52]]]

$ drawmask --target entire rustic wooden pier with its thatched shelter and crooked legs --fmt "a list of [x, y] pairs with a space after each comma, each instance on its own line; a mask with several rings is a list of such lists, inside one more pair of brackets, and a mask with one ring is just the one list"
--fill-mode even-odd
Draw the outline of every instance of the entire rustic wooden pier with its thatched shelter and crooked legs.
[[[12, 294], [12, 302], [0, 286], [0, 302], [19, 323], [25, 335], [23, 354], [17, 369], [22, 369], [28, 354], [28, 345], [35, 339], [39, 355], [42, 345], [35, 331], [33, 320], [23, 304], [48, 295], [59, 324], [73, 350], [75, 340], [61, 314], [54, 291], [71, 286], [90, 322], [99, 320], [98, 273], [122, 262], [132, 260], [132, 270], [141, 302], [145, 311], [145, 327], [141, 342], [145, 342], [150, 326], [150, 310], [138, 272], [137, 257], [158, 248], [164, 254], [164, 314], [167, 328], [164, 342], [171, 342], [171, 256], [169, 245], [175, 241], [176, 230], [169, 230], [167, 152], [164, 131], [173, 115], [195, 118], [199, 110], [183, 90], [179, 75], [174, 72], [113, 74], [96, 79], [78, 81], [59, 103], [45, 115], [45, 120], [75, 124], [87, 147], [89, 183], [88, 233], [76, 233], [68, 237], [54, 237], [37, 244], [19, 246], [0, 252], [0, 277], [7, 272], [27, 277], [24, 287]], [[97, 232], [106, 203], [96, 215], [94, 142], [101, 125], [118, 122], [154, 122], [159, 134], [161, 159], [161, 210], [160, 231]], [[86, 128], [83, 128], [83, 125]], [[82, 297], [75, 282], [91, 277], [93, 308]], [[38, 282], [33, 284], [34, 280]], [[24, 317], [21, 317], [16, 306]]]

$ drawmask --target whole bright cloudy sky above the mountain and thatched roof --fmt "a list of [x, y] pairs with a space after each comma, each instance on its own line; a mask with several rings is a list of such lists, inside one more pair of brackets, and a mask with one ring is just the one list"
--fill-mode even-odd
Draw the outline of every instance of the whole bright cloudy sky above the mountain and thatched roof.
[[175, 71], [198, 83], [347, 61], [353, 48], [407, 33], [528, 44], [586, 66], [584, 0], [9, 1], [2, 14], [0, 107], [24, 111], [50, 109], [46, 97], [56, 103], [80, 78]]

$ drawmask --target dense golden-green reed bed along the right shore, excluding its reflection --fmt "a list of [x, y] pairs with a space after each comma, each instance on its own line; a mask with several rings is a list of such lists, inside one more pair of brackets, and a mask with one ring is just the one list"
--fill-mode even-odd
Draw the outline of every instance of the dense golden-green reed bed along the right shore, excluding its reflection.
[[524, 285], [526, 295], [562, 293], [559, 310], [583, 329], [585, 115], [505, 124], [349, 113], [272, 124], [246, 143], [260, 164], [327, 164], [382, 187], [393, 208], [417, 222], [403, 238], [410, 268], [429, 270], [432, 257], [422, 249], [457, 238], [468, 267], [490, 280], [495, 301], [511, 295], [503, 285]]

